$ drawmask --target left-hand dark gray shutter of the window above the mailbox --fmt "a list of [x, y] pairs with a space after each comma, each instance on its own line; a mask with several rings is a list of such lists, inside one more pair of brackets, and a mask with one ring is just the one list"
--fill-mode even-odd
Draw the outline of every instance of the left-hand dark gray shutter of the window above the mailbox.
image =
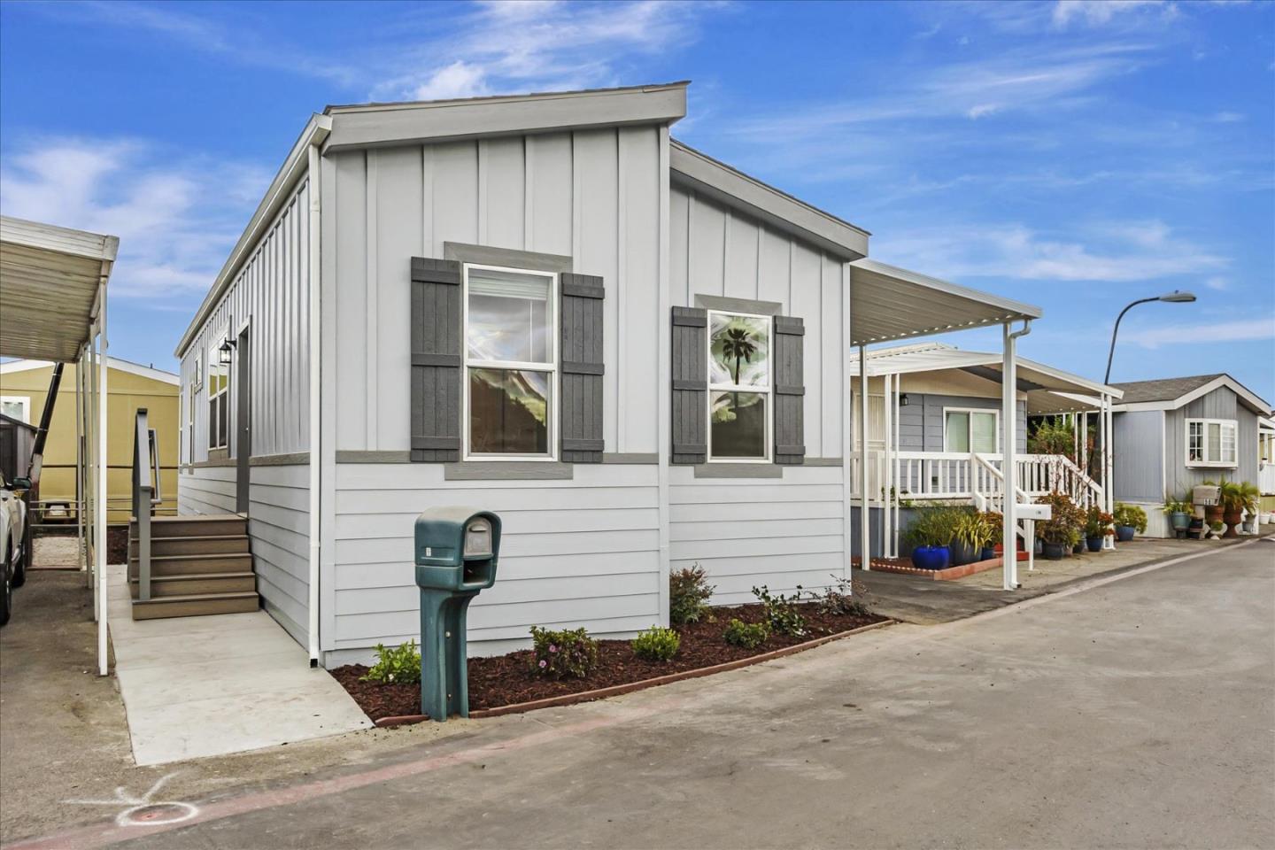
[[460, 264], [412, 257], [412, 463], [460, 460]]

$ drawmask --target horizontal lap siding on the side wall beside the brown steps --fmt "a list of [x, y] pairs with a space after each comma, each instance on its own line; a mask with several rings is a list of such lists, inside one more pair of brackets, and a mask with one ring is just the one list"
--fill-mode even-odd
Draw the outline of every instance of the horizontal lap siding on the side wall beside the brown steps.
[[310, 468], [252, 466], [247, 533], [256, 590], [302, 646], [310, 599]]

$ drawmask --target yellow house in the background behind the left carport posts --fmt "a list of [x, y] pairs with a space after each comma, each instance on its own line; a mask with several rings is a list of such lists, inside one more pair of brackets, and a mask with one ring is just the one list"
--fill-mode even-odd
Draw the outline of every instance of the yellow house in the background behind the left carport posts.
[[[158, 514], [177, 511], [177, 376], [150, 366], [107, 358], [107, 521], [129, 521], [133, 415], [147, 408], [150, 427], [159, 435], [161, 494]], [[0, 363], [0, 413], [32, 426], [40, 424], [48, 398], [54, 364], [48, 361], [9, 361]], [[62, 370], [62, 381], [54, 407], [54, 421], [45, 443], [45, 463], [40, 477], [38, 520], [75, 522], [75, 364]], [[23, 472], [26, 474], [26, 472]], [[47, 516], [45, 510], [47, 508]]]

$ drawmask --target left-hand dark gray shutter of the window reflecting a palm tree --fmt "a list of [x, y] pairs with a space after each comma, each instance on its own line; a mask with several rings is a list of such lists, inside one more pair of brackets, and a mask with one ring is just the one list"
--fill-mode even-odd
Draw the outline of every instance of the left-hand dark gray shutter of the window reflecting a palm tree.
[[708, 321], [697, 307], [673, 307], [674, 464], [703, 464], [709, 456]]

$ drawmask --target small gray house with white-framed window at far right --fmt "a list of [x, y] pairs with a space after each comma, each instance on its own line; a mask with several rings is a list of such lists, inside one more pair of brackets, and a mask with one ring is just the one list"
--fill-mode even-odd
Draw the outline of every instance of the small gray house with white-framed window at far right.
[[1229, 375], [1114, 384], [1116, 498], [1141, 505], [1149, 535], [1169, 535], [1159, 506], [1205, 480], [1258, 483], [1258, 422], [1270, 405]]

